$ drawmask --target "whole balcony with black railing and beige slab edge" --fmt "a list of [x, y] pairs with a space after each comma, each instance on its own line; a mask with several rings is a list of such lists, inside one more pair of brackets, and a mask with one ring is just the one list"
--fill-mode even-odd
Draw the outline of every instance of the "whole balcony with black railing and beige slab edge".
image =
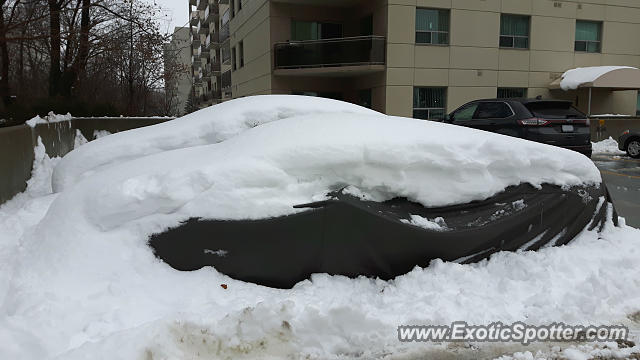
[[275, 74], [351, 76], [383, 71], [385, 42], [383, 36], [358, 36], [278, 43]]

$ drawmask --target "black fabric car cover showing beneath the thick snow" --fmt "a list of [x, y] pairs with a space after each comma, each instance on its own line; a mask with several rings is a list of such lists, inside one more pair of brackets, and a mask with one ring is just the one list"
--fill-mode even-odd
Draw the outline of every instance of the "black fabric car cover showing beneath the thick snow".
[[[191, 219], [151, 236], [178, 270], [213, 266], [238, 280], [290, 288], [313, 273], [393, 279], [434, 259], [469, 263], [497, 251], [563, 245], [617, 215], [606, 187], [522, 184], [484, 201], [425, 208], [407, 199], [365, 201], [341, 192], [262, 220]], [[609, 212], [612, 209], [612, 212]], [[439, 229], [420, 227], [417, 216]], [[417, 219], [420, 219], [417, 218]]]

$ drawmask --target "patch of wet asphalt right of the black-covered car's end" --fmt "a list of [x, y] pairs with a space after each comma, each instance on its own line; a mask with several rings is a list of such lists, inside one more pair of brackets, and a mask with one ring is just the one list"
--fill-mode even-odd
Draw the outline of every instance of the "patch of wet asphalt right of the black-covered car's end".
[[640, 159], [619, 155], [593, 155], [611, 193], [618, 214], [640, 228]]

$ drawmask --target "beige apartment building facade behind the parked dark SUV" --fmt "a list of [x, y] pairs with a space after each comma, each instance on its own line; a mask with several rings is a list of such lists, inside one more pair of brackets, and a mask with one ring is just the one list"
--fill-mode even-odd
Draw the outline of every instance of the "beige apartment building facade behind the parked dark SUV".
[[425, 119], [494, 97], [638, 108], [640, 85], [558, 86], [573, 68], [640, 67], [638, 0], [228, 1], [233, 97], [324, 96]]

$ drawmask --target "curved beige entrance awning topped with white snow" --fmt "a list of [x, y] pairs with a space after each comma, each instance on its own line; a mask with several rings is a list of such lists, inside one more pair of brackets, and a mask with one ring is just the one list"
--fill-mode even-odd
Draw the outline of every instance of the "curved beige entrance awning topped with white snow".
[[630, 66], [592, 66], [566, 71], [550, 89], [640, 89], [640, 70]]

